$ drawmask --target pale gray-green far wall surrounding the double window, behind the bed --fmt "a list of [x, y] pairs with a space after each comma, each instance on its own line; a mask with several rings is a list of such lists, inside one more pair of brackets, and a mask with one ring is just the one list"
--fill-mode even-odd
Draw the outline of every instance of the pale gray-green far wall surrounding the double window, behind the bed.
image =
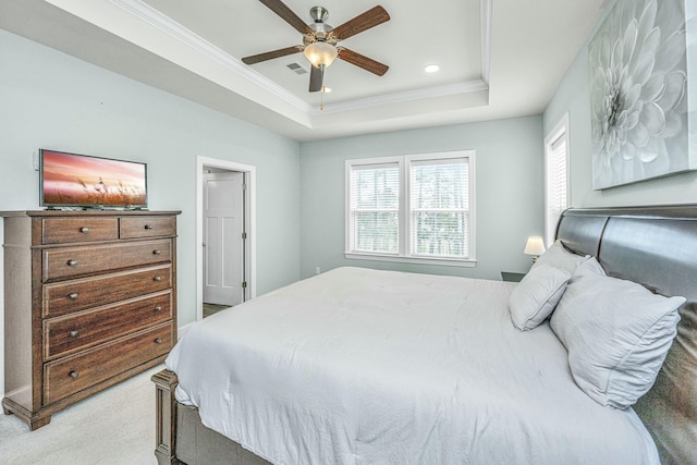
[[[475, 268], [344, 258], [344, 160], [460, 149], [476, 150]], [[303, 278], [358, 266], [500, 279], [530, 266], [525, 241], [543, 229], [540, 117], [304, 143], [301, 152]]]

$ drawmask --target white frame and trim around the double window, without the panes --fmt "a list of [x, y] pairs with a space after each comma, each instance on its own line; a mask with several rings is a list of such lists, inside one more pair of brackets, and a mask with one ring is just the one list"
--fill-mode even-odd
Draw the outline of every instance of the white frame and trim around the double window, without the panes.
[[[455, 257], [435, 257], [426, 255], [412, 254], [411, 241], [412, 241], [412, 198], [411, 198], [411, 169], [412, 162], [423, 162], [432, 160], [435, 162], [449, 160], [449, 159], [467, 159], [468, 164], [468, 257], [455, 258]], [[475, 150], [456, 150], [456, 151], [443, 151], [431, 154], [411, 154], [403, 156], [392, 157], [377, 157], [377, 158], [358, 158], [345, 160], [345, 237], [344, 237], [344, 257], [348, 259], [358, 260], [378, 260], [378, 261], [398, 261], [408, 264], [423, 264], [423, 265], [445, 265], [456, 267], [475, 267], [476, 259], [476, 198], [475, 198]], [[356, 252], [352, 249], [353, 240], [353, 223], [352, 223], [352, 210], [351, 210], [351, 174], [354, 167], [368, 167], [368, 166], [386, 166], [389, 163], [398, 163], [400, 172], [400, 201], [399, 201], [399, 252], [396, 254], [374, 253], [374, 252]]]

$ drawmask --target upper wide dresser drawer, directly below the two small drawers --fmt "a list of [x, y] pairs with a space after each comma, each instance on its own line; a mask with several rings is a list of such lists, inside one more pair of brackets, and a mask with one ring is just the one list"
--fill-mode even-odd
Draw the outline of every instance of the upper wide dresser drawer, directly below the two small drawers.
[[171, 240], [44, 250], [44, 282], [170, 261]]

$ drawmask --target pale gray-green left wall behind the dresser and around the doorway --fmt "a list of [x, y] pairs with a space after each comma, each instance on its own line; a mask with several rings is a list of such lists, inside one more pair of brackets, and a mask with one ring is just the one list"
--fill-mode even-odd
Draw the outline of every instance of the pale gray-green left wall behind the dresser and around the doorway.
[[257, 168], [257, 293], [298, 279], [298, 143], [0, 30], [0, 210], [39, 208], [38, 148], [148, 163], [150, 209], [182, 210], [180, 326], [196, 319], [196, 156]]

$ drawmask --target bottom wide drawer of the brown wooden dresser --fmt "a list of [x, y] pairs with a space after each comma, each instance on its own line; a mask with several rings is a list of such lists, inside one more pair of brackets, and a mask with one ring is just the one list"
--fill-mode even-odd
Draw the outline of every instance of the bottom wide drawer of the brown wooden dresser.
[[60, 401], [164, 355], [172, 348], [172, 325], [164, 323], [84, 353], [49, 362], [44, 365], [44, 404]]

